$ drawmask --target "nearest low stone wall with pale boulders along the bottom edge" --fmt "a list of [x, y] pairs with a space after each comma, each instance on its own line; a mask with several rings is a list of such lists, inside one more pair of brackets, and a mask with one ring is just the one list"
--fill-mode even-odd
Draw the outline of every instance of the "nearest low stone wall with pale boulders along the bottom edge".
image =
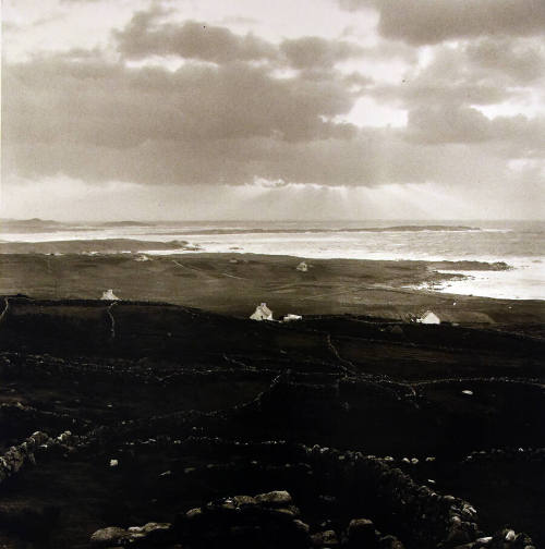
[[[365, 517], [346, 521], [342, 527], [305, 522], [290, 492], [274, 490], [256, 496], [238, 495], [210, 501], [177, 515], [171, 523], [147, 523], [121, 528], [108, 526], [90, 536], [90, 546], [187, 549], [404, 549], [396, 536], [383, 534]], [[181, 544], [181, 545], [175, 545]], [[420, 547], [412, 545], [412, 547]], [[524, 534], [506, 528], [470, 542], [446, 540], [437, 548], [535, 549]]]

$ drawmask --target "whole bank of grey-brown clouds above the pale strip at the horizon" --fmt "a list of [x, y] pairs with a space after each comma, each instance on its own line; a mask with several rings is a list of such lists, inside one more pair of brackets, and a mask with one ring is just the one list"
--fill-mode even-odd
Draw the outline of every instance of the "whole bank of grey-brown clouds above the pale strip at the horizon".
[[[207, 22], [168, 5], [135, 11], [95, 48], [4, 63], [8, 184], [477, 185], [506, 197], [513, 182], [529, 195], [543, 184], [542, 1], [331, 1], [368, 12], [374, 34], [277, 39], [244, 14]], [[375, 109], [407, 123], [371, 124]]]

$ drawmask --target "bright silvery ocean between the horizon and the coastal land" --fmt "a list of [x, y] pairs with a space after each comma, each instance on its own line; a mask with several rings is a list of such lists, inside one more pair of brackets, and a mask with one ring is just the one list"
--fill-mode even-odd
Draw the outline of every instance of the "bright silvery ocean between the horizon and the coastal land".
[[[505, 261], [508, 270], [459, 271], [465, 279], [427, 288], [437, 292], [545, 300], [545, 222], [542, 221], [181, 221], [1, 223], [3, 242], [133, 239], [185, 241], [207, 253], [293, 255], [303, 258]], [[153, 254], [185, 249], [146, 251]], [[195, 252], [192, 252], [195, 253]]]

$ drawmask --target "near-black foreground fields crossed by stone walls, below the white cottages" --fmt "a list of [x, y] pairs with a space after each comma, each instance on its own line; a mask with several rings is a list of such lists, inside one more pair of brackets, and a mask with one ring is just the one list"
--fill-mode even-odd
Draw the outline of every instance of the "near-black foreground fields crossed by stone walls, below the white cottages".
[[9, 297], [0, 547], [545, 542], [545, 343]]

